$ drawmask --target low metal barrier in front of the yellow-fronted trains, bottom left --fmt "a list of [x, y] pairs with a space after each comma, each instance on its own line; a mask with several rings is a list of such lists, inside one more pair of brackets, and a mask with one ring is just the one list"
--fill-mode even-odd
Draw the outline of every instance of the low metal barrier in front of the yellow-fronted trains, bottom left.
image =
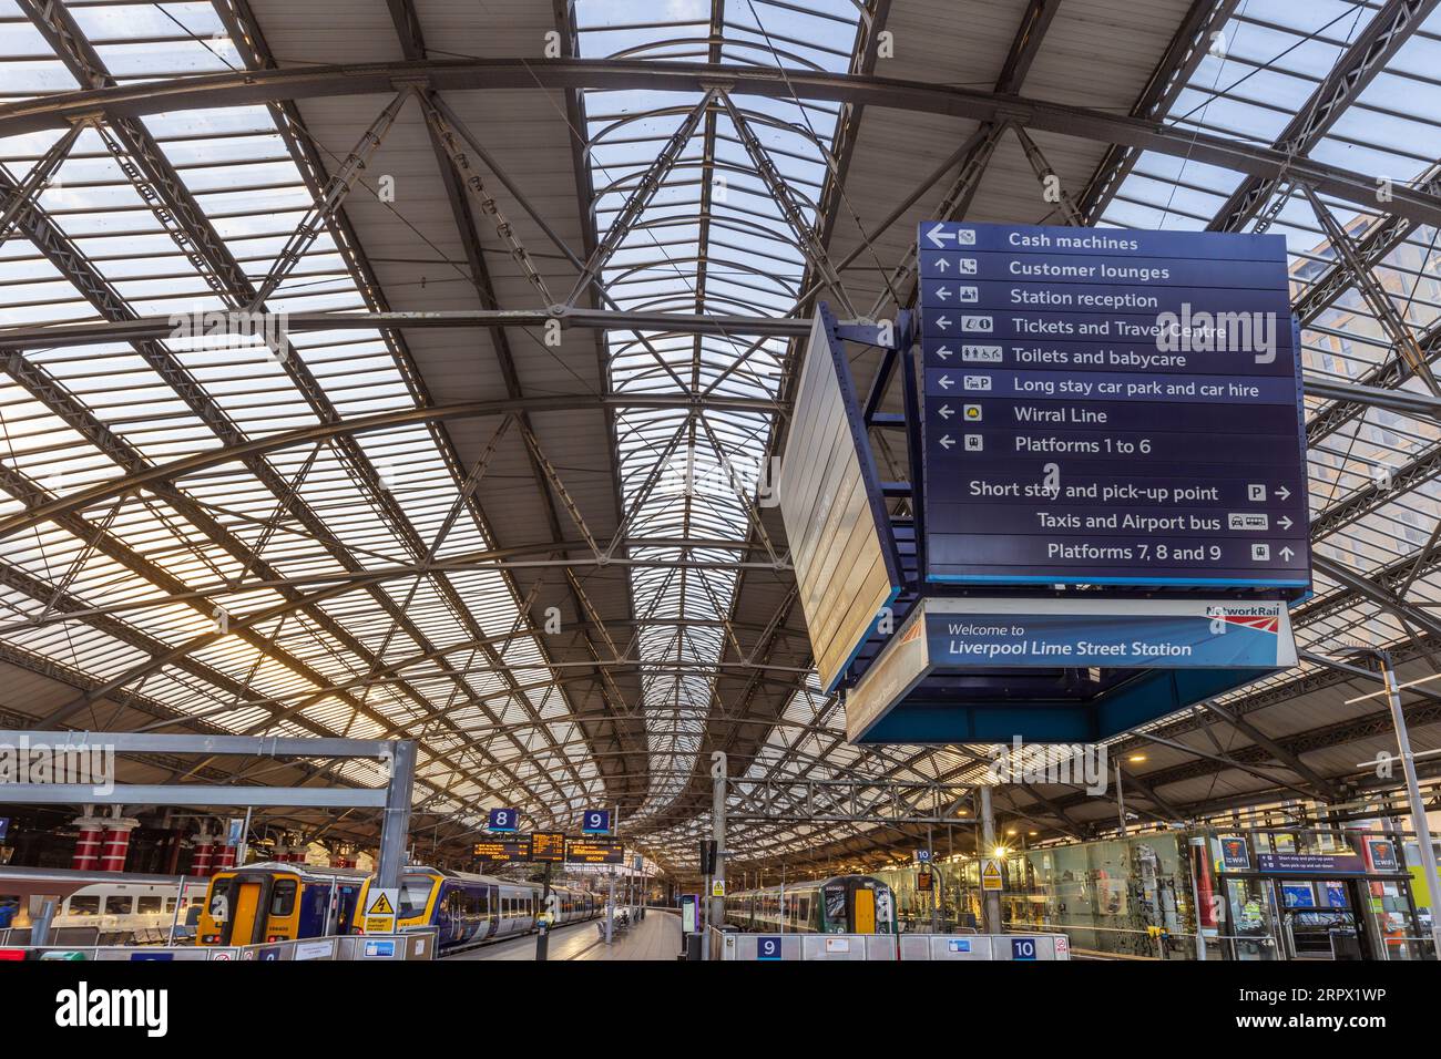
[[434, 960], [435, 931], [298, 938], [262, 945], [42, 945], [23, 947], [27, 960], [128, 962], [280, 962], [287, 960]]

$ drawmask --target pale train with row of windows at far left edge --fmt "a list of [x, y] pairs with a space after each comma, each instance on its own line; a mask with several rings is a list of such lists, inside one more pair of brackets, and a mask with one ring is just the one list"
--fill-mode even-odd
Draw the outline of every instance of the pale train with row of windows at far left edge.
[[55, 898], [55, 929], [91, 928], [115, 944], [164, 941], [203, 903], [208, 883], [183, 875], [0, 867], [0, 934], [27, 929], [45, 898]]

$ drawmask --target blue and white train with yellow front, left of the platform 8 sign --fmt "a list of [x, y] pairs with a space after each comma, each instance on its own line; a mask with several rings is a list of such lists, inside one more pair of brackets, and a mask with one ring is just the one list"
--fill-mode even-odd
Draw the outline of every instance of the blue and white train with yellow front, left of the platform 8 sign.
[[[362, 888], [362, 908], [367, 905], [373, 883], [375, 876], [370, 876]], [[540, 883], [412, 864], [401, 876], [396, 931], [434, 928], [441, 955], [514, 938], [536, 929], [536, 918], [543, 911], [542, 893]], [[550, 888], [555, 926], [595, 919], [604, 911], [605, 901], [588, 890]], [[363, 925], [357, 925], [354, 932], [363, 934]]]

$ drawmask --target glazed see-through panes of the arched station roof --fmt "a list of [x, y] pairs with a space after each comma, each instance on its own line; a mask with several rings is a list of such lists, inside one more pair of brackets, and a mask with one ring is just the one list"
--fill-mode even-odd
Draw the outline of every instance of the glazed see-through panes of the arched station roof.
[[[210, 3], [65, 7], [102, 66], [94, 84], [252, 65]], [[76, 59], [58, 55], [37, 27], [36, 9], [0, 0], [0, 102], [86, 86]], [[847, 72], [873, 10], [856, 0], [576, 0], [575, 20], [584, 58]], [[1183, 135], [1275, 144], [1378, 10], [1242, 0], [1160, 120]], [[1432, 16], [1304, 154], [1396, 184], [1431, 182], [1441, 171], [1438, 68], [1441, 16]], [[615, 245], [601, 272], [614, 307], [797, 311], [816, 269], [765, 171], [774, 166], [795, 216], [823, 226], [820, 203], [844, 176], [840, 105], [640, 89], [585, 91], [581, 102], [594, 236]], [[59, 140], [0, 140], [0, 199]], [[138, 166], [137, 141], [154, 146], [216, 233], [219, 271], [195, 252], [169, 193]], [[249, 307], [280, 277], [265, 300], [274, 313], [382, 304], [363, 248], [344, 229], [320, 225], [298, 259], [285, 255], [320, 196], [317, 160], [331, 173], [343, 161], [264, 105], [91, 122], [78, 133], [36, 207], [0, 232], [4, 326], [143, 316], [196, 326], [166, 340], [19, 354], [0, 376], [0, 517], [157, 463], [427, 402], [392, 333], [307, 331], [277, 347], [267, 336], [216, 337], [200, 326], [206, 311]], [[550, 164], [568, 170], [569, 153]], [[1140, 153], [1098, 222], [1205, 228], [1241, 183], [1235, 171]], [[1383, 196], [1373, 209], [1320, 199], [1359, 248], [1376, 248], [1372, 275], [1389, 311], [1429, 357], [1441, 313], [1437, 229], [1398, 225]], [[1245, 223], [1255, 226], [1287, 238], [1310, 376], [1428, 392], [1398, 359], [1393, 326], [1378, 318], [1375, 298], [1347, 281], [1306, 195], [1282, 180]], [[647, 841], [673, 863], [693, 860], [705, 823], [672, 826], [667, 813], [695, 774], [723, 660], [742, 654], [729, 647], [739, 565], [757, 540], [755, 483], [775, 425], [769, 414], [705, 399], [781, 399], [790, 352], [782, 339], [723, 333], [612, 330], [605, 339], [605, 383], [621, 399], [621, 519], [628, 537], [667, 542], [628, 548], [640, 560], [627, 568], [635, 620], [628, 651], [640, 658], [633, 705], [648, 769], [641, 813], [625, 823], [660, 828]], [[624, 403], [654, 395], [697, 403]], [[1314, 395], [1307, 416], [1316, 553], [1389, 585], [1412, 617], [1441, 604], [1431, 555], [1441, 426]], [[203, 718], [229, 732], [406, 732], [422, 742], [416, 798], [427, 811], [474, 827], [484, 808], [506, 803], [565, 826], [581, 807], [604, 804], [607, 788], [562, 694], [559, 664], [526, 615], [525, 589], [499, 566], [427, 569], [494, 546], [464, 488], [470, 470], [442, 431], [408, 425], [235, 460], [186, 477], [183, 488], [157, 484], [39, 523], [3, 542], [4, 657], [69, 674], [91, 692], [66, 723], [105, 729], [120, 712], [97, 706], [101, 692], [124, 689], [160, 718]], [[1324, 573], [1316, 586], [1295, 611], [1303, 648], [1356, 630], [1378, 643], [1415, 634], [1396, 607]], [[1244, 707], [1294, 676], [1226, 700]], [[850, 746], [839, 705], [810, 680], [742, 777], [964, 782], [977, 778], [984, 751]], [[363, 762], [340, 774], [379, 782]], [[733, 833], [738, 846], [784, 853], [846, 830], [768, 821]]]

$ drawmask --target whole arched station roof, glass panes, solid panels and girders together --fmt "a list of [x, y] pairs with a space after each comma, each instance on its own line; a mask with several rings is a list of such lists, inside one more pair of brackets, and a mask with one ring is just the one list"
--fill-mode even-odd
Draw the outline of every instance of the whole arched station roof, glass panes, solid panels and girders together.
[[[767, 321], [893, 317], [922, 219], [1079, 219], [1282, 233], [1303, 324], [1301, 666], [1115, 741], [1128, 804], [1363, 790], [1385, 703], [1316, 656], [1441, 647], [1435, 7], [0, 0], [0, 726], [414, 738], [437, 843], [618, 805], [679, 870], [720, 751], [780, 800], [732, 795], [739, 860], [909, 849], [801, 817], [987, 748], [846, 742], [765, 501], [804, 329]], [[238, 767], [285, 772], [383, 782]]]

